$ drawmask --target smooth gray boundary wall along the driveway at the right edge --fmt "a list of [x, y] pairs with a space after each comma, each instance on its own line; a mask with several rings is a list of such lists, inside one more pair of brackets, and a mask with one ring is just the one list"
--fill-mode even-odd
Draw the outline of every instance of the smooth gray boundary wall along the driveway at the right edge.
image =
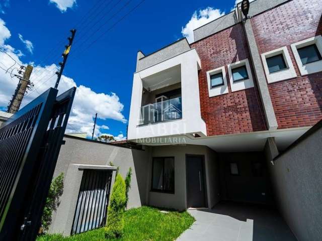
[[276, 202], [300, 241], [322, 240], [321, 147], [321, 127], [274, 161], [278, 155], [274, 138], [269, 138], [265, 146]]

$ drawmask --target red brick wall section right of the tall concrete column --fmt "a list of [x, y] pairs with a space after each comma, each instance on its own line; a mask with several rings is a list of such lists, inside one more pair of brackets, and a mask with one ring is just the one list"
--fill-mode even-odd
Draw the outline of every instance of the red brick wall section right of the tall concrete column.
[[255, 16], [260, 54], [287, 46], [297, 77], [268, 85], [278, 128], [312, 126], [322, 118], [322, 72], [301, 76], [290, 44], [322, 34], [320, 0], [296, 0]]

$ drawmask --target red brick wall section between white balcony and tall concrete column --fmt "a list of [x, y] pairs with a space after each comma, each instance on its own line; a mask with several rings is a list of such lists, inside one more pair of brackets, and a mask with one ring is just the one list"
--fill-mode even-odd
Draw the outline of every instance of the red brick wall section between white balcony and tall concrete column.
[[[191, 45], [201, 59], [199, 91], [201, 116], [207, 135], [226, 135], [266, 130], [259, 92], [255, 88], [231, 92], [227, 64], [248, 58], [243, 26], [237, 24]], [[209, 98], [206, 72], [225, 66], [229, 92]], [[254, 76], [254, 72], [252, 70]], [[254, 78], [255, 82], [255, 78]]]

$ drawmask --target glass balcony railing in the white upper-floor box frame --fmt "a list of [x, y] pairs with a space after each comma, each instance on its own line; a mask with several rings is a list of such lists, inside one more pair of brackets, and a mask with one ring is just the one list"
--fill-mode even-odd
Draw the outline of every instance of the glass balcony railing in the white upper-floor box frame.
[[147, 104], [141, 107], [140, 125], [182, 118], [181, 97]]

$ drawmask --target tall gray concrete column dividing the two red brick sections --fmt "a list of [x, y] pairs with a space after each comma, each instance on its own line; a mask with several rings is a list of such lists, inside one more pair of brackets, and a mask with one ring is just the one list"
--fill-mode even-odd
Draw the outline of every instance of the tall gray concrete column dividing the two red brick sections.
[[273, 109], [271, 96], [268, 91], [268, 86], [267, 86], [267, 81], [266, 81], [266, 77], [265, 77], [265, 73], [262, 65], [262, 60], [258, 52], [258, 48], [257, 48], [257, 44], [256, 44], [256, 40], [255, 40], [253, 28], [252, 28], [252, 23], [250, 19], [244, 20], [244, 28], [245, 28], [245, 34], [246, 34], [248, 46], [251, 53], [253, 68], [257, 79], [257, 85], [260, 91], [260, 96], [264, 107], [264, 113], [265, 113], [268, 130], [269, 131], [276, 130], [278, 127], [276, 116]]

